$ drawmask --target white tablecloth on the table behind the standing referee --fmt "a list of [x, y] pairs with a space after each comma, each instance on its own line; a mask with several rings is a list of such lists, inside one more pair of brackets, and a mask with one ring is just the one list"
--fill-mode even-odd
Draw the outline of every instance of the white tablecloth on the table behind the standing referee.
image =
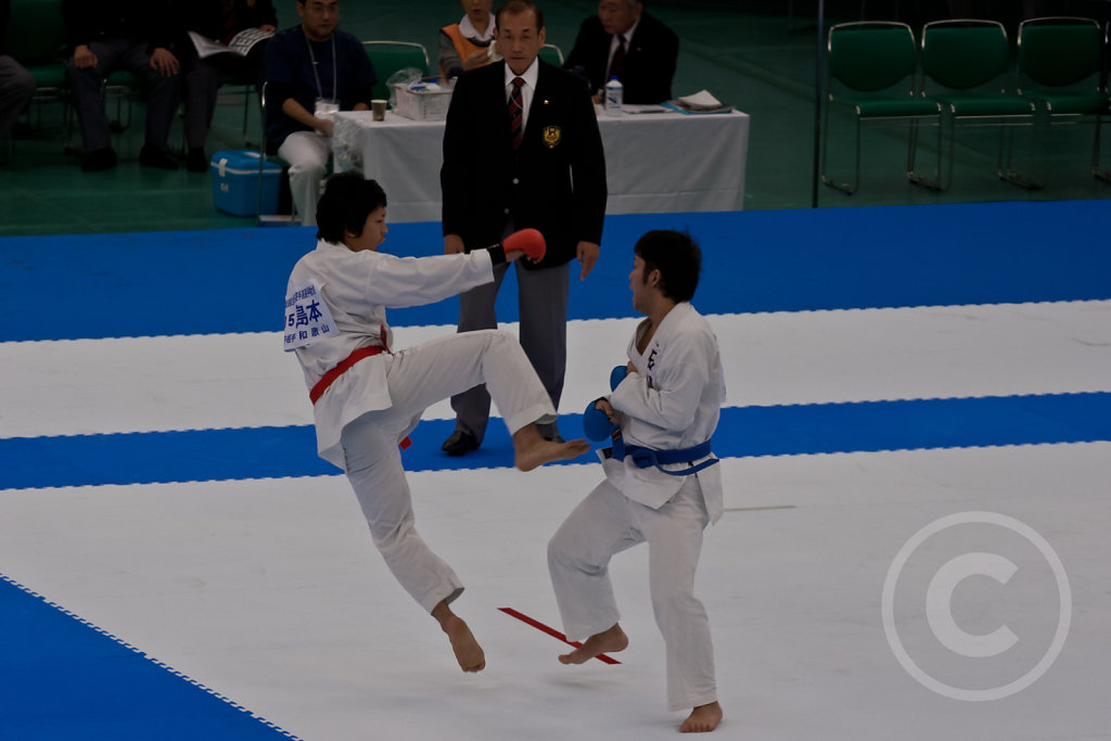
[[[607, 213], [740, 211], [749, 116], [625, 113], [598, 118], [605, 150]], [[440, 220], [443, 121], [342, 112], [332, 133], [336, 170], [359, 169], [389, 199], [390, 221]]]

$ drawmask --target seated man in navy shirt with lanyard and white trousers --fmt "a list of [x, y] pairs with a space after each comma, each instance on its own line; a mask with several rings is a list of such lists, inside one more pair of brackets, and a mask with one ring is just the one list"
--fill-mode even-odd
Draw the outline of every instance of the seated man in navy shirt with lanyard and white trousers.
[[293, 208], [314, 226], [332, 116], [370, 110], [376, 78], [362, 43], [337, 29], [339, 0], [297, 0], [297, 14], [267, 44], [267, 149], [289, 162]]

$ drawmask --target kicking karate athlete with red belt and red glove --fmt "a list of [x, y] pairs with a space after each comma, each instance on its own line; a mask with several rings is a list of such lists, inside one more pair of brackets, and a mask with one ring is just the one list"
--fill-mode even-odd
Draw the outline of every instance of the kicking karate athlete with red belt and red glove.
[[543, 237], [524, 230], [469, 254], [382, 254], [386, 193], [353, 172], [329, 179], [317, 222], [317, 249], [289, 278], [284, 346], [297, 352], [310, 389], [318, 453], [347, 472], [374, 544], [406, 591], [439, 621], [460, 668], [481, 671], [482, 648], [448, 607], [463, 587], [413, 528], [398, 447], [407, 444], [426, 407], [483, 382], [512, 433], [517, 468], [574, 458], [590, 447], [540, 437], [536, 423], [554, 421], [556, 410], [512, 334], [449, 334], [391, 352], [386, 308], [431, 303], [489, 283], [498, 262], [540, 259]]

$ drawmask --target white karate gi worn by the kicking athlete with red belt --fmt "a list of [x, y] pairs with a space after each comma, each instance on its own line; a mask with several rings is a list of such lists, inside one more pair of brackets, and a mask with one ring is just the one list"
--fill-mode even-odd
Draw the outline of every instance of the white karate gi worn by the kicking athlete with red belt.
[[[487, 250], [399, 258], [319, 242], [293, 268], [287, 298], [314, 284], [339, 333], [297, 348], [306, 384], [311, 389], [358, 348], [388, 344], [387, 307], [431, 303], [491, 280]], [[483, 382], [510, 432], [554, 420], [548, 392], [520, 343], [499, 330], [449, 334], [364, 358], [313, 405], [320, 457], [347, 472], [374, 544], [406, 591], [429, 612], [463, 588], [413, 528], [398, 444], [428, 405]]]

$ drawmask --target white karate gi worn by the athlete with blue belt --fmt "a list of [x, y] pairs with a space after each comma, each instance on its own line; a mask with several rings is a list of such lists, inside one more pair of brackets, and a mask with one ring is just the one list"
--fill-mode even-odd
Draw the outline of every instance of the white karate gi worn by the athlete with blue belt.
[[[718, 340], [687, 302], [657, 328], [644, 352], [629, 343], [630, 372], [609, 397], [629, 445], [680, 450], [705, 442], [725, 400]], [[712, 455], [694, 459], [699, 463]], [[690, 463], [664, 465], [682, 470]], [[702, 531], [722, 513], [721, 467], [690, 475], [637, 468], [631, 457], [602, 457], [605, 480], [568, 517], [548, 547], [548, 564], [563, 629], [583, 641], [620, 619], [608, 564], [638, 543], [649, 545], [655, 622], [667, 647], [668, 707], [694, 708], [718, 699], [710, 623], [694, 597]]]

